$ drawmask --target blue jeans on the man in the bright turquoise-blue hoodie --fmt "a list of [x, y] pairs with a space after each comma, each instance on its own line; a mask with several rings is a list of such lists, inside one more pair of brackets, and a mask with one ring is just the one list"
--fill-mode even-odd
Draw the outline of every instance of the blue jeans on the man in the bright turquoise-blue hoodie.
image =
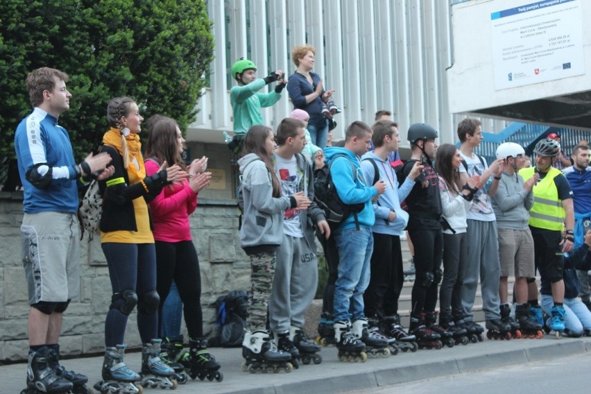
[[363, 292], [370, 281], [373, 237], [369, 228], [334, 232], [339, 249], [339, 276], [334, 284], [334, 321], [357, 320], [363, 315]]

